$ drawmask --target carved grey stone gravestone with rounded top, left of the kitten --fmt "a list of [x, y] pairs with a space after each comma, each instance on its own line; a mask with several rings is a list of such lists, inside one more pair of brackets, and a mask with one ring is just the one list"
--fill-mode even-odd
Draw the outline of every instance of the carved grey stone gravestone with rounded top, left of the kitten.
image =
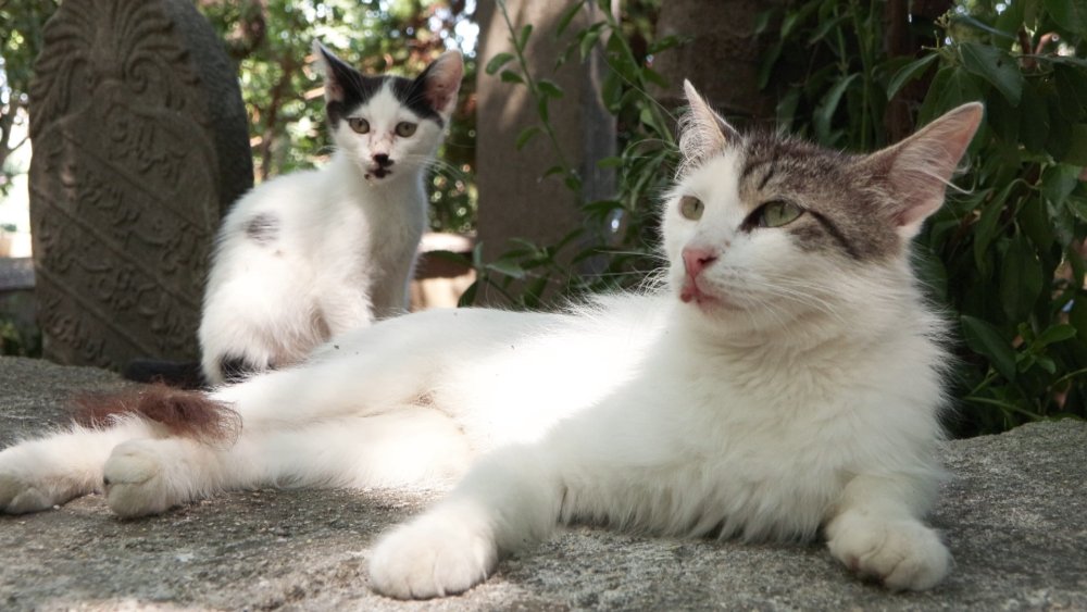
[[191, 360], [220, 217], [252, 185], [245, 108], [191, 0], [65, 0], [30, 87], [46, 357]]

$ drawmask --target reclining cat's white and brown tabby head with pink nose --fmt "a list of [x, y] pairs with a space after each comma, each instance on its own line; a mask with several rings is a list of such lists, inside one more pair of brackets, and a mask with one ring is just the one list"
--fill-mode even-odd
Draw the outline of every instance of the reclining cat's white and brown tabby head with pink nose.
[[670, 285], [688, 308], [700, 319], [780, 327], [811, 315], [848, 317], [903, 295], [910, 239], [942, 204], [980, 104], [851, 155], [740, 134], [685, 88], [684, 163], [663, 234]]

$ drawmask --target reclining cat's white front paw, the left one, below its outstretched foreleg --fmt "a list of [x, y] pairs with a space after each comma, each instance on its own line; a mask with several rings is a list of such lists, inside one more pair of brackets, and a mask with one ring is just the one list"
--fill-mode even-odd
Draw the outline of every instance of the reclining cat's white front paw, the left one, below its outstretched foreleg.
[[382, 538], [370, 559], [371, 587], [398, 599], [428, 599], [487, 579], [498, 563], [493, 535], [478, 517], [458, 514], [424, 514]]

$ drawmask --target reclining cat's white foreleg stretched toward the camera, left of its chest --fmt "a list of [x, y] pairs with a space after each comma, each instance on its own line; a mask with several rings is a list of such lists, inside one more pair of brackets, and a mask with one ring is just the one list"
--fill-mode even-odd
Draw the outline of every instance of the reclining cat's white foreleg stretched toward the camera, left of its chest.
[[467, 590], [489, 576], [501, 553], [540, 541], [559, 520], [562, 486], [535, 447], [508, 447], [475, 465], [433, 509], [374, 548], [371, 587], [399, 599]]

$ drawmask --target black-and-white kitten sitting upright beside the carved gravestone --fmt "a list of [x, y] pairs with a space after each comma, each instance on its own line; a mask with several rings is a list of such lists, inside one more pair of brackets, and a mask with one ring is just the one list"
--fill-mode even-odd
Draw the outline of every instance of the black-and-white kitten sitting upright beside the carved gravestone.
[[423, 178], [464, 73], [448, 51], [415, 79], [365, 76], [320, 43], [336, 150], [227, 214], [200, 322], [212, 384], [301, 361], [330, 336], [408, 308], [426, 226]]

